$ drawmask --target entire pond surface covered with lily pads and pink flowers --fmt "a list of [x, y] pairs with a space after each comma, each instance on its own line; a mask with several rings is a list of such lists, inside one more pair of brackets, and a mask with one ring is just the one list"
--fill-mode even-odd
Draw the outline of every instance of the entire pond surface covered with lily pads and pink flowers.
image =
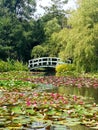
[[0, 77], [0, 130], [98, 130], [98, 79], [12, 77]]

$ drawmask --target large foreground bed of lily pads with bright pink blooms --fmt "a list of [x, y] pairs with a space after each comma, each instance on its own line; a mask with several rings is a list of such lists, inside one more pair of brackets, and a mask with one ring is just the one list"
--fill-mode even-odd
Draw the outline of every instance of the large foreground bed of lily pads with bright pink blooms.
[[98, 127], [98, 105], [82, 96], [40, 93], [35, 91], [2, 91], [0, 127], [27, 127], [32, 122]]

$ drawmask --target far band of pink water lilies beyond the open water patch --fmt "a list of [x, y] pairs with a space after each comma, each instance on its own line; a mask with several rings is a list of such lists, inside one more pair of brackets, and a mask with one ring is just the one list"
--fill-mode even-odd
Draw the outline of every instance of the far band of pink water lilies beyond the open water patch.
[[72, 86], [72, 87], [94, 87], [98, 88], [98, 79], [90, 78], [90, 77], [57, 77], [57, 76], [49, 76], [49, 77], [39, 77], [34, 78], [32, 80], [33, 83], [43, 83], [43, 84], [52, 84], [53, 86]]

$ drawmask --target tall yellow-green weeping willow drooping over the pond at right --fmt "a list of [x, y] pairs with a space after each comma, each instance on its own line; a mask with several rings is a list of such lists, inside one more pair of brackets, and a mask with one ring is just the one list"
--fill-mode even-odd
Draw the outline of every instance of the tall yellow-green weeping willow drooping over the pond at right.
[[69, 18], [71, 29], [61, 52], [73, 58], [78, 71], [98, 70], [98, 0], [78, 0]]

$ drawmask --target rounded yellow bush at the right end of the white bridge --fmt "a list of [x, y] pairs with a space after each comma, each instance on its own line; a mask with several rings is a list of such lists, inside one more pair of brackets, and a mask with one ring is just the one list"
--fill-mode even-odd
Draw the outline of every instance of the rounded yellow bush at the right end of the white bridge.
[[61, 64], [56, 66], [57, 76], [75, 75], [75, 66], [73, 64]]

